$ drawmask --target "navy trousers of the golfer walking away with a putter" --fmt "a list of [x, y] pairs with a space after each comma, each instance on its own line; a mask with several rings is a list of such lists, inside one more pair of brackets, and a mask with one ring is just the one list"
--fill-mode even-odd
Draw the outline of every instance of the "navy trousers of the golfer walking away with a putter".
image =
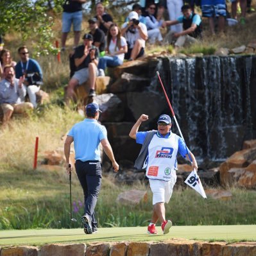
[[94, 209], [101, 188], [101, 163], [94, 160], [86, 162], [76, 160], [75, 167], [85, 197], [85, 214], [92, 221], [92, 228], [96, 228]]

